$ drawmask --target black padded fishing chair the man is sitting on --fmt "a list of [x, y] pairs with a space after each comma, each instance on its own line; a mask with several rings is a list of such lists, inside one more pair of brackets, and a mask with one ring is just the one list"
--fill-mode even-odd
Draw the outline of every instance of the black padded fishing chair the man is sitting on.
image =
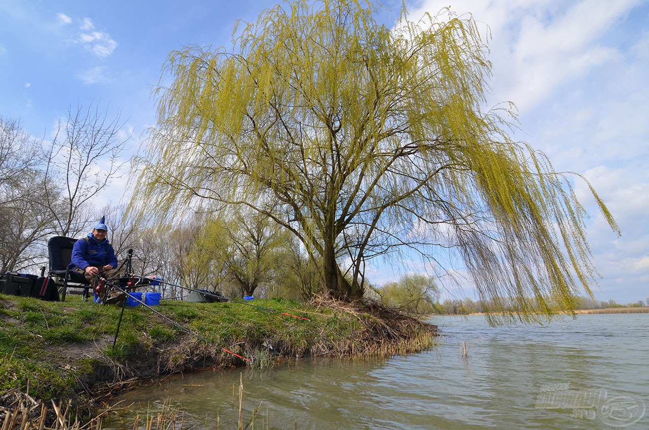
[[55, 280], [61, 301], [66, 301], [67, 288], [82, 288], [84, 300], [88, 300], [90, 290], [92, 290], [92, 286], [88, 284], [84, 275], [68, 267], [72, 260], [72, 248], [77, 240], [79, 239], [54, 236], [47, 241], [49, 276]]

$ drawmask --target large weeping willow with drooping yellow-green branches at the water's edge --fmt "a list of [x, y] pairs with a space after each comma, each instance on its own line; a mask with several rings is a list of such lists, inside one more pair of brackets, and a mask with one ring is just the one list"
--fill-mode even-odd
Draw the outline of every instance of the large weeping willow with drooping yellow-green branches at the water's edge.
[[154, 197], [158, 218], [265, 214], [339, 297], [363, 295], [377, 256], [405, 248], [439, 267], [450, 249], [492, 310], [574, 309], [597, 276], [587, 214], [569, 178], [509, 138], [509, 105], [482, 108], [474, 20], [402, 10], [390, 30], [375, 16], [363, 0], [297, 0], [236, 28], [230, 51], [171, 53], [134, 201]]

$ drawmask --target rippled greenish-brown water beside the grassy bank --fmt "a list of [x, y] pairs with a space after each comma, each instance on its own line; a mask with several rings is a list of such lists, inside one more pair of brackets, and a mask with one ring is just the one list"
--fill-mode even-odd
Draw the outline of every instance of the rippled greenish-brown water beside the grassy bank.
[[508, 327], [482, 316], [430, 322], [445, 336], [424, 353], [194, 373], [120, 399], [150, 413], [169, 399], [192, 429], [236, 429], [239, 381], [243, 425], [258, 410], [249, 428], [649, 429], [649, 314]]

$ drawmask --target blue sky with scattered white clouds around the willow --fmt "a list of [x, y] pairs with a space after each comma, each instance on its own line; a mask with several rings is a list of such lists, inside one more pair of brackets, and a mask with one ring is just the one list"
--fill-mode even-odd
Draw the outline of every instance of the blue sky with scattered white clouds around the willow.
[[[67, 108], [121, 113], [130, 155], [153, 126], [151, 90], [173, 50], [231, 47], [237, 19], [273, 0], [183, 2], [0, 0], [0, 116], [47, 140]], [[391, 27], [400, 1], [384, 1]], [[544, 151], [557, 171], [585, 176], [620, 226], [613, 233], [576, 179], [591, 214], [587, 234], [602, 276], [596, 299], [649, 299], [649, 0], [406, 1], [410, 19], [450, 8], [471, 13], [489, 43], [489, 106], [515, 103], [514, 137]], [[104, 192], [117, 203], [127, 176]], [[375, 267], [373, 283], [399, 274]], [[471, 295], [467, 291], [467, 295]]]

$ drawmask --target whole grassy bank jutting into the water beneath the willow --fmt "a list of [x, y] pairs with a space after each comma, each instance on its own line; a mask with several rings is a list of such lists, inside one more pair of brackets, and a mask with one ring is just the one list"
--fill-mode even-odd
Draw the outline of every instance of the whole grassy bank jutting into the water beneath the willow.
[[0, 294], [0, 393], [19, 390], [37, 401], [70, 399], [73, 407], [88, 411], [97, 406], [99, 394], [127, 381], [246, 365], [221, 348], [263, 368], [290, 357], [421, 351], [430, 348], [435, 333], [433, 326], [402, 314], [336, 301], [254, 303], [275, 312], [239, 303], [162, 301], [156, 307], [210, 343], [149, 309], [127, 307], [113, 348], [121, 308], [79, 297], [58, 303]]

